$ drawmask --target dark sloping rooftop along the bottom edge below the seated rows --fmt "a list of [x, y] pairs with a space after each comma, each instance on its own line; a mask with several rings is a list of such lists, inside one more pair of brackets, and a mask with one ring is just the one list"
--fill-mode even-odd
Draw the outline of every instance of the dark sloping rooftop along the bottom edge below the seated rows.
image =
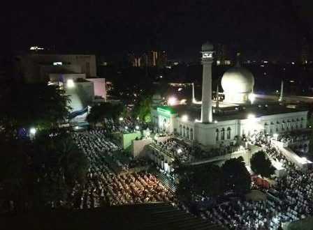
[[0, 217], [1, 227], [10, 229], [208, 229], [222, 230], [168, 204], [92, 208], [88, 210], [52, 209], [24, 215]]

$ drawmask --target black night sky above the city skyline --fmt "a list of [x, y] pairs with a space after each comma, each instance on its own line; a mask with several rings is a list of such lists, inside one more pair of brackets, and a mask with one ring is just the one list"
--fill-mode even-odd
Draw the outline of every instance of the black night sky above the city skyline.
[[2, 54], [38, 45], [109, 60], [150, 48], [194, 59], [205, 40], [293, 59], [313, 22], [311, 0], [7, 1], [2, 10]]

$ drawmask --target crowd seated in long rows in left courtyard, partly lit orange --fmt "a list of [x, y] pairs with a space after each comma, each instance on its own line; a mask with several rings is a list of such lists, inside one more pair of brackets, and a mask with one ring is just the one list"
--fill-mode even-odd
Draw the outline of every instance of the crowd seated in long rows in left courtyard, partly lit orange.
[[103, 130], [73, 133], [73, 138], [90, 162], [87, 183], [82, 190], [79, 185], [73, 189], [72, 197], [80, 197], [79, 202], [73, 202], [73, 208], [175, 201], [174, 195], [152, 174], [145, 171], [116, 174], [107, 157], [112, 157], [118, 147], [105, 137]]

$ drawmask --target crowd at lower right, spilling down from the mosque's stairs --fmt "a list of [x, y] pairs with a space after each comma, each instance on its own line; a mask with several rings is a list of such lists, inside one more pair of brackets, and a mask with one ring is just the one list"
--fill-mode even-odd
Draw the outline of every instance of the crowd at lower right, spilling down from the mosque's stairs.
[[[200, 210], [200, 216], [227, 229], [277, 229], [282, 222], [301, 220], [313, 215], [313, 175], [301, 171], [296, 164], [270, 144], [262, 133], [247, 137], [251, 144], [262, 146], [272, 160], [280, 162], [286, 169], [286, 176], [275, 178], [270, 190], [252, 182], [252, 187], [267, 194], [264, 201], [250, 201], [237, 197]], [[208, 197], [197, 197], [206, 201]], [[187, 213], [189, 206], [182, 206]]]

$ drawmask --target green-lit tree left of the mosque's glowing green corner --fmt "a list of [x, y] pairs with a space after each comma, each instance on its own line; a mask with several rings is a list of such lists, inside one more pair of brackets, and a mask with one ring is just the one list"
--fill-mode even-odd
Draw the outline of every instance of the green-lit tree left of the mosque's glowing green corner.
[[139, 118], [141, 121], [150, 121], [150, 109], [152, 108], [152, 97], [150, 95], [141, 95], [133, 108], [133, 118]]

